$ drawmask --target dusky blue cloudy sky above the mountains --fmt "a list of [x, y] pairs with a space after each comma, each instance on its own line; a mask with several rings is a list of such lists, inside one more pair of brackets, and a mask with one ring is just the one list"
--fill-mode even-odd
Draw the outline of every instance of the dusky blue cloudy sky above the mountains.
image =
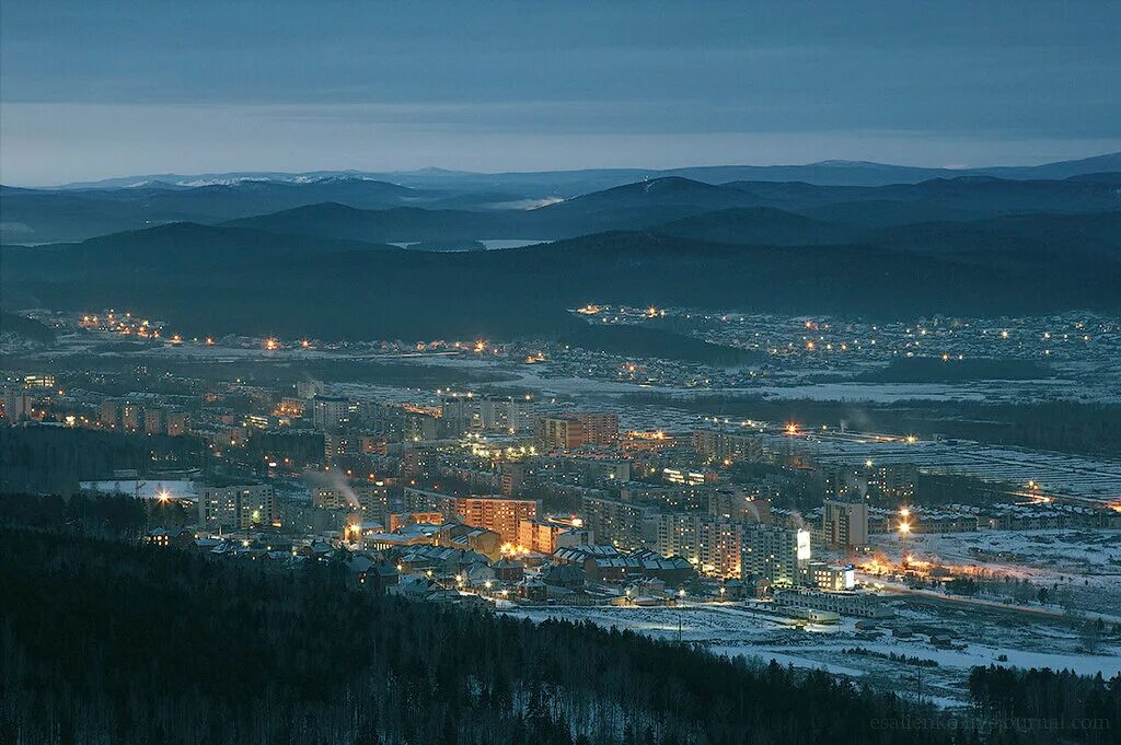
[[0, 181], [1034, 165], [1121, 150], [1121, 2], [0, 2]]

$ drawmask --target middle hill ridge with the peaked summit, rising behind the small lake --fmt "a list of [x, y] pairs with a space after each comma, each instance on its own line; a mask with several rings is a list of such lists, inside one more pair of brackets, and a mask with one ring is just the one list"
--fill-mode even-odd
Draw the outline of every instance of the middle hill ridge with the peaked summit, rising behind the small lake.
[[[618, 186], [536, 209], [503, 212], [434, 212], [417, 208], [354, 209], [341, 204], [316, 204], [226, 223], [281, 234], [374, 242], [485, 239], [557, 240], [611, 230], [651, 230], [670, 221], [679, 234], [697, 229], [708, 215], [741, 212], [740, 224], [724, 227], [721, 242], [819, 243], [812, 222], [833, 223], [821, 230], [825, 242], [862, 235], [853, 227], [882, 227], [932, 221], [974, 221], [982, 217], [1047, 213], [1101, 213], [1121, 209], [1121, 175], [1110, 181], [1010, 181], [965, 177], [921, 184], [878, 187], [813, 186], [733, 181], [714, 186], [679, 177]], [[751, 212], [754, 211], [754, 212]], [[769, 212], [768, 212], [769, 211]], [[775, 223], [784, 213], [787, 230]], [[804, 220], [798, 221], [797, 217]], [[750, 217], [750, 218], [749, 218]], [[693, 218], [692, 221], [688, 218]], [[750, 227], [750, 233], [734, 233]], [[778, 232], [776, 232], [778, 231]], [[748, 240], [748, 235], [754, 238]], [[706, 235], [708, 239], [717, 235]]]

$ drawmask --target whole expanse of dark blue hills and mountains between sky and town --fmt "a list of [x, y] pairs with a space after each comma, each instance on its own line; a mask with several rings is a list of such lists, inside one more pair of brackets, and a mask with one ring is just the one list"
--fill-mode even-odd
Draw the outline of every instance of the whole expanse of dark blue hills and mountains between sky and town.
[[[534, 208], [511, 206], [532, 203], [517, 179], [453, 188], [479, 175], [445, 171], [409, 184], [319, 174], [2, 187], [0, 299], [6, 310], [128, 304], [198, 334], [545, 334], [614, 348], [663, 348], [665, 339], [591, 337], [567, 309], [1118, 311], [1121, 171], [1071, 173], [1117, 167], [1117, 158], [887, 185], [659, 176]], [[797, 168], [900, 176], [876, 164]], [[553, 176], [577, 183], [575, 171]], [[536, 244], [482, 250], [494, 240]], [[689, 354], [736, 358], [706, 347]]]

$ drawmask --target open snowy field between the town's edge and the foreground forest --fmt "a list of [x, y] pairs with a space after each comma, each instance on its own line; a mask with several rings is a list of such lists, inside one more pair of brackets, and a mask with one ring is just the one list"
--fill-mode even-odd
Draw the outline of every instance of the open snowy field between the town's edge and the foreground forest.
[[[925, 700], [964, 706], [965, 681], [975, 665], [1004, 664], [1072, 669], [1080, 673], [1121, 672], [1121, 643], [1106, 640], [1093, 654], [1081, 649], [1075, 628], [1048, 620], [1018, 618], [1010, 614], [978, 613], [972, 608], [895, 600], [898, 624], [933, 624], [953, 628], [967, 642], [964, 650], [938, 649], [925, 635], [896, 639], [890, 631], [876, 640], [856, 637], [854, 621], [836, 626], [798, 628], [736, 604], [676, 607], [553, 607], [508, 608], [509, 615], [540, 622], [545, 618], [590, 621], [669, 641], [704, 646], [716, 654], [738, 655], [768, 663], [821, 669], [856, 678], [872, 686], [916, 696], [921, 685]], [[852, 650], [868, 653], [853, 652]], [[937, 665], [918, 667], [889, 659], [890, 654], [919, 658]], [[1004, 658], [1003, 660], [1000, 658]], [[919, 677], [921, 681], [919, 681]]]

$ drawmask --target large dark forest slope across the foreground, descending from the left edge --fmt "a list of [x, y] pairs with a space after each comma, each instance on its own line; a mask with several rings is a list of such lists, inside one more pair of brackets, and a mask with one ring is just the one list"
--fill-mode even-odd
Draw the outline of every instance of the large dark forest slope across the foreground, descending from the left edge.
[[342, 572], [0, 529], [0, 742], [952, 742], [877, 728], [933, 710], [822, 671], [350, 592]]

